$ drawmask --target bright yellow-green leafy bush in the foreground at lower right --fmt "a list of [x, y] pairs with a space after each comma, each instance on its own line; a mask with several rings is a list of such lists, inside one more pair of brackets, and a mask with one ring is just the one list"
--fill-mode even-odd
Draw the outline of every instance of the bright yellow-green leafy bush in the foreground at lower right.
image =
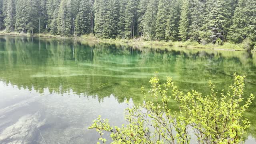
[[[243, 114], [254, 100], [254, 96], [244, 100], [244, 78], [234, 74], [234, 84], [225, 94], [216, 92], [214, 84], [209, 81], [211, 92], [202, 96], [196, 90], [184, 93], [167, 77], [160, 84], [157, 76], [151, 78], [152, 100], [126, 109], [128, 124], [122, 127], [110, 126], [107, 119], [99, 116], [89, 129], [96, 129], [102, 137], [103, 131], [111, 132], [113, 144], [188, 144], [193, 131], [200, 144], [235, 144], [243, 142], [243, 135], [250, 126]], [[168, 104], [176, 101], [178, 111], [172, 111]]]

